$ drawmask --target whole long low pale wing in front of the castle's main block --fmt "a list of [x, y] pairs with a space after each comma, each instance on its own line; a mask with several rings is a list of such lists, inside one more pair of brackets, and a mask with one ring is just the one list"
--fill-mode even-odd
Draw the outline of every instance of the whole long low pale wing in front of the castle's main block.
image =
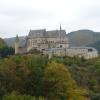
[[70, 47], [70, 48], [51, 48], [43, 51], [43, 54], [52, 56], [83, 57], [92, 59], [98, 57], [98, 52], [93, 47]]

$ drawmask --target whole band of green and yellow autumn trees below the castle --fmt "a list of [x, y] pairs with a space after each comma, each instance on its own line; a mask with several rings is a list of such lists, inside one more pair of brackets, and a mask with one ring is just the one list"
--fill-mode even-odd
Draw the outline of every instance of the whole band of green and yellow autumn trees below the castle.
[[0, 59], [1, 100], [99, 100], [100, 58], [47, 59], [16, 55]]

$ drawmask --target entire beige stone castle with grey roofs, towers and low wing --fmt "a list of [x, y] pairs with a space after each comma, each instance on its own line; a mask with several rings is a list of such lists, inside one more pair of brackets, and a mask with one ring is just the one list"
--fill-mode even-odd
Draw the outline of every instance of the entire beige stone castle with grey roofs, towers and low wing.
[[15, 54], [23, 54], [31, 50], [38, 50], [51, 58], [55, 56], [84, 57], [92, 59], [98, 57], [98, 52], [93, 47], [70, 47], [66, 31], [61, 29], [46, 31], [30, 30], [25, 39], [25, 44], [20, 46], [19, 38], [16, 36]]

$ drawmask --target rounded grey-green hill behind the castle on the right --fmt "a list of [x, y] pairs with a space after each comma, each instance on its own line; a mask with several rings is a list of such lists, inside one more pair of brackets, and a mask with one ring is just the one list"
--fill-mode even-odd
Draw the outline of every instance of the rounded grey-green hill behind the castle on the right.
[[74, 31], [67, 36], [70, 46], [87, 46], [100, 41], [100, 32], [93, 32], [91, 30]]

